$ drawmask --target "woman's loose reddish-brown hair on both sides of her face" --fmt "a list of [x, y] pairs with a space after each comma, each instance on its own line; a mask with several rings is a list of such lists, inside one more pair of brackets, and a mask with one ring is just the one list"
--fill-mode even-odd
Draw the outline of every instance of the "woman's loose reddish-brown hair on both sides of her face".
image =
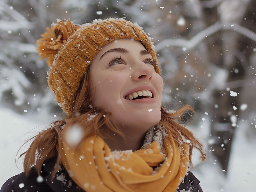
[[[107, 138], [113, 140], [109, 135], [109, 131], [111, 131], [119, 134], [125, 139], [125, 135], [118, 127], [110, 112], [95, 109], [91, 106], [93, 94], [90, 91], [92, 90], [92, 87], [90, 83], [90, 73], [88, 71], [90, 71], [90, 65], [88, 66], [80, 83], [75, 100], [74, 112], [68, 114], [63, 120], [53, 122], [50, 128], [39, 132], [39, 134], [28, 140], [30, 141], [35, 138], [28, 150], [20, 155], [20, 157], [25, 155], [23, 167], [26, 175], [30, 173], [32, 166], [35, 166], [38, 175], [40, 175], [43, 162], [51, 157], [58, 156], [57, 164], [60, 164], [60, 154], [58, 154], [58, 151], [61, 153], [62, 150], [57, 150], [57, 147], [62, 127], [65, 124], [65, 129], [68, 129], [74, 124], [83, 127], [84, 138], [98, 134], [104, 139]], [[182, 147], [180, 142], [184, 142], [184, 138], [190, 141], [189, 160], [192, 165], [191, 155], [194, 147], [201, 153], [201, 161], [205, 160], [206, 154], [204, 152], [203, 145], [194, 137], [193, 133], [179, 124], [181, 119], [184, 117], [184, 114], [188, 111], [194, 112], [192, 107], [189, 105], [183, 106], [180, 110], [177, 110], [174, 113], [165, 111], [161, 106], [161, 120], [158, 124], [163, 125], [163, 127], [166, 128], [168, 135], [173, 137], [180, 147]], [[98, 115], [91, 121], [85, 121], [85, 119], [88, 118], [88, 115], [94, 113], [98, 113]], [[55, 167], [52, 177], [55, 175], [57, 167], [58, 166]]]

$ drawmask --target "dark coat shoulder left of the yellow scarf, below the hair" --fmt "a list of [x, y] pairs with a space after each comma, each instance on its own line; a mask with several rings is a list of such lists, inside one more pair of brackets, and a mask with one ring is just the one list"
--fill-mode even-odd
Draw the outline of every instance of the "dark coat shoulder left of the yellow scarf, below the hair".
[[28, 177], [24, 172], [11, 177], [4, 183], [0, 192], [83, 192], [62, 165], [58, 166], [58, 171], [52, 178], [52, 171], [57, 166], [56, 159], [53, 157], [44, 161], [40, 176], [32, 167]]

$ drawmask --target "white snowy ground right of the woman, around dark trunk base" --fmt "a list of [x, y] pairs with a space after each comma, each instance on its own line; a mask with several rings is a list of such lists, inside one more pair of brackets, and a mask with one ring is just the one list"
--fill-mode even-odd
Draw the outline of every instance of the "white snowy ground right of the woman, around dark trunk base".
[[207, 160], [192, 170], [204, 192], [256, 191], [256, 140], [249, 142], [241, 125], [236, 127], [234, 137], [226, 177], [209, 150]]

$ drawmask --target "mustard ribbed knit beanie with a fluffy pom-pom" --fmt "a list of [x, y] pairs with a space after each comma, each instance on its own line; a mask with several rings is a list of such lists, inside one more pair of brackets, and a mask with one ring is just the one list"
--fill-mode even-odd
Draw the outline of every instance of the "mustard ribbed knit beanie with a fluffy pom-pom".
[[86, 68], [101, 48], [115, 39], [140, 41], [152, 55], [155, 71], [160, 74], [152, 39], [137, 23], [124, 18], [95, 19], [83, 25], [59, 20], [46, 31], [36, 41], [37, 51], [41, 59], [48, 58], [48, 85], [67, 114], [74, 110], [77, 90]]

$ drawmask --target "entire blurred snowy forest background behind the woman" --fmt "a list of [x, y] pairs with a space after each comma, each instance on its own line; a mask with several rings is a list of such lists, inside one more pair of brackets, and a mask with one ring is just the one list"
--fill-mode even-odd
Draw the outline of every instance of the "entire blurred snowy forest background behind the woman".
[[[256, 0], [1, 0], [0, 184], [21, 172], [24, 141], [63, 118], [36, 39], [56, 18], [77, 24], [125, 17], [153, 38], [163, 104], [196, 111], [188, 127], [207, 160], [192, 172], [204, 191], [251, 191], [256, 177]], [[21, 148], [26, 150], [27, 146]], [[17, 162], [22, 168], [22, 160]]]

